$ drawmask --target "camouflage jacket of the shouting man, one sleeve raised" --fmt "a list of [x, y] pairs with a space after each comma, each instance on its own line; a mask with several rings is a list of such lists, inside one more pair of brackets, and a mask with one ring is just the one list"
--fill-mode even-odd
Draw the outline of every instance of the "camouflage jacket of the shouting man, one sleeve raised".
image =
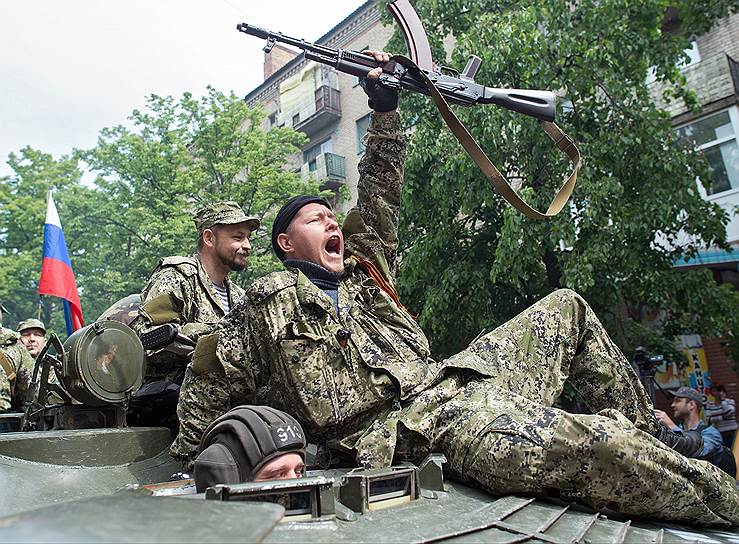
[[[405, 159], [398, 114], [373, 113], [368, 134], [357, 206], [342, 227], [347, 260], [338, 314], [297, 270], [253, 283], [244, 302], [219, 323], [217, 338], [198, 343], [171, 449], [180, 460], [190, 462], [208, 423], [239, 404], [282, 409], [312, 441], [348, 450], [376, 419], [442, 377], [445, 363], [430, 357], [421, 328], [380, 288], [395, 281]], [[358, 260], [372, 263], [379, 281]], [[209, 356], [209, 342], [217, 358]]]

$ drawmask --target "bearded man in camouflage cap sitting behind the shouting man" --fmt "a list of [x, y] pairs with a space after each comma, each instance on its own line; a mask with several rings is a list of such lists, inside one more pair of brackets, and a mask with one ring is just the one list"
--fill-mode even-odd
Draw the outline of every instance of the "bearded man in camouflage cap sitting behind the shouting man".
[[[247, 216], [236, 202], [215, 202], [193, 215], [198, 231], [197, 252], [167, 257], [154, 270], [141, 293], [141, 307], [131, 327], [142, 334], [164, 323], [197, 339], [228, 313], [244, 291], [229, 280], [231, 271], [244, 270], [251, 250], [249, 238], [259, 219]], [[146, 382], [182, 383], [186, 361], [166, 350], [148, 354]]]

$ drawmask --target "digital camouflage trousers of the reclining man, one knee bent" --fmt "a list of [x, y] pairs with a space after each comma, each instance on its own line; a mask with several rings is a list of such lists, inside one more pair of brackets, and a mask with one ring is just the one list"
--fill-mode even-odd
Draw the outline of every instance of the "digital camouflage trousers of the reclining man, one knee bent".
[[[739, 524], [734, 479], [651, 436], [657, 423], [641, 383], [577, 294], [551, 294], [447, 363], [464, 367], [465, 358], [483, 359], [489, 377], [451, 371], [386, 419], [398, 431], [396, 459], [441, 451], [447, 470], [495, 494]], [[594, 415], [552, 407], [565, 381]]]

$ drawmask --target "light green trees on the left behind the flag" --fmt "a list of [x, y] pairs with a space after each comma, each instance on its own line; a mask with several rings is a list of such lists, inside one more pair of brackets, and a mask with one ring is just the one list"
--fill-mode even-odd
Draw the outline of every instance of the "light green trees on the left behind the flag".
[[[212, 88], [199, 100], [188, 93], [179, 100], [152, 95], [129, 119], [129, 126], [103, 129], [93, 149], [73, 158], [54, 160], [30, 148], [9, 157], [14, 174], [0, 187], [0, 300], [11, 312], [6, 325], [36, 313], [48, 188], [87, 321], [139, 292], [161, 258], [195, 251], [190, 214], [205, 202], [235, 200], [262, 220], [238, 283], [278, 268], [269, 233], [279, 205], [318, 192], [317, 183], [302, 181], [289, 162], [305, 136], [288, 128], [263, 130], [262, 111]], [[42, 319], [63, 330], [58, 303], [44, 298]]]

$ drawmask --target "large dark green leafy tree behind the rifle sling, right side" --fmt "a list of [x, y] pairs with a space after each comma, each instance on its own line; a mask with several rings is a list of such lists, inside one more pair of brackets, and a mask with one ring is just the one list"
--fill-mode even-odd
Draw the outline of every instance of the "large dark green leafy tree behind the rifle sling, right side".
[[[708, 4], [710, 4], [710, 9]], [[526, 219], [494, 193], [425, 97], [405, 95], [414, 126], [401, 208], [400, 291], [436, 352], [464, 348], [554, 289], [580, 292], [628, 354], [637, 344], [669, 350], [676, 334], [736, 340], [739, 295], [709, 272], [679, 272], [675, 259], [726, 248], [727, 215], [701, 199], [699, 153], [678, 140], [646, 83], [654, 67], [665, 96], [694, 104], [678, 64], [691, 37], [732, 2], [536, 0], [414, 3], [435, 57], [452, 34], [451, 64], [482, 57], [477, 81], [555, 89], [558, 122], [584, 167], [572, 204], [547, 221]], [[679, 34], [662, 30], [671, 7]], [[391, 50], [402, 50], [396, 37]], [[412, 113], [409, 113], [412, 112]], [[494, 107], [457, 114], [493, 162], [537, 209], [546, 209], [568, 164], [536, 121]], [[442, 228], [439, 227], [442, 225]], [[460, 310], [461, 308], [461, 310]], [[645, 324], [660, 310], [660, 328]]]

